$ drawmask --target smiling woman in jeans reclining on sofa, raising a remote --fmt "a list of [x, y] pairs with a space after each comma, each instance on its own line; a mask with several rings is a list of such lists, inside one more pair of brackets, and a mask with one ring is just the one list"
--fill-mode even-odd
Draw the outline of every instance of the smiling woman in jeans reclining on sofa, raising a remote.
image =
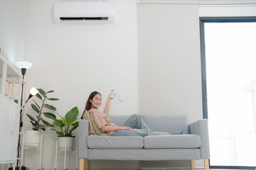
[[[98, 110], [102, 104], [102, 96], [99, 92], [93, 91], [87, 99], [85, 110], [93, 112], [93, 119], [97, 127], [110, 136], [146, 136], [146, 135], [171, 135], [169, 132], [152, 132], [144, 123], [138, 114], [131, 115], [122, 126], [114, 125], [108, 117], [110, 113], [110, 94], [107, 98], [105, 109], [102, 112]], [[84, 111], [85, 113], [85, 111]], [[81, 117], [82, 118], [82, 117]], [[183, 131], [175, 135], [183, 134]], [[174, 134], [173, 134], [174, 135]]]

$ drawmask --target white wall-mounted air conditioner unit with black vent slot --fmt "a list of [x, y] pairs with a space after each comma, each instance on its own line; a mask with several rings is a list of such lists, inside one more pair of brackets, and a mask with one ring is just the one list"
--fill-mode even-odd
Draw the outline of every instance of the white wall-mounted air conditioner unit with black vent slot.
[[55, 23], [114, 23], [114, 2], [55, 2], [54, 18]]

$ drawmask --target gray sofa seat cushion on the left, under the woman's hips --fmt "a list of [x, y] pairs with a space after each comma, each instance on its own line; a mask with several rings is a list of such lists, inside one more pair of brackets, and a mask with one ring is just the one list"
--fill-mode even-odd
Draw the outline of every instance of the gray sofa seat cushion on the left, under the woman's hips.
[[143, 137], [140, 136], [97, 136], [89, 135], [87, 137], [87, 146], [89, 148], [107, 148], [107, 149], [140, 149], [143, 148]]

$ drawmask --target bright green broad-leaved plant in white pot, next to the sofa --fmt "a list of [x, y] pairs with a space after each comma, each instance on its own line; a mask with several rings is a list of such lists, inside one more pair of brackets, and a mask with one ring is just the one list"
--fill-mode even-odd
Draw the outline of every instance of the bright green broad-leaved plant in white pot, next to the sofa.
[[[56, 112], [55, 112], [56, 113]], [[56, 113], [58, 114], [58, 113]], [[75, 136], [73, 136], [73, 131], [78, 128], [79, 123], [75, 122], [78, 118], [78, 107], [72, 108], [65, 117], [60, 116], [60, 119], [55, 118], [53, 115], [46, 115], [48, 118], [53, 120], [50, 130], [54, 130], [58, 135], [58, 149], [60, 151], [73, 151]]]

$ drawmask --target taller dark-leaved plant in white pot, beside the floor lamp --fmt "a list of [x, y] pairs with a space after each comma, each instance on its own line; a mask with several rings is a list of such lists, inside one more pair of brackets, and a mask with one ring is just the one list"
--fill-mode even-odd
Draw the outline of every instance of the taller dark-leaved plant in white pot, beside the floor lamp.
[[54, 106], [51, 106], [50, 104], [46, 103], [47, 101], [58, 101], [58, 98], [49, 98], [48, 94], [53, 93], [54, 91], [44, 91], [43, 89], [38, 89], [39, 93], [36, 94], [36, 96], [39, 98], [39, 101], [41, 101], [41, 106], [36, 103], [36, 101], [33, 100], [33, 103], [31, 104], [31, 107], [33, 108], [33, 111], [36, 112], [36, 117], [33, 117], [30, 114], [26, 114], [28, 118], [30, 119], [30, 122], [32, 124], [32, 130], [26, 130], [25, 132], [25, 147], [39, 147], [40, 146], [40, 137], [41, 137], [41, 131], [46, 130], [46, 127], [50, 125], [46, 120], [43, 119], [42, 115], [55, 118], [56, 116], [53, 113], [46, 112], [46, 109], [50, 111], [56, 111], [56, 108]]

